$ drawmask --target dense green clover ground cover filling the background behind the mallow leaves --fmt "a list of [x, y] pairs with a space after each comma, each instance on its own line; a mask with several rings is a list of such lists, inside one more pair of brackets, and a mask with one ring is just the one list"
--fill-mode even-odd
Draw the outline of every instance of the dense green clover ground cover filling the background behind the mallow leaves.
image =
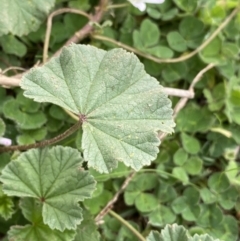
[[[216, 66], [195, 86], [194, 99], [189, 100], [176, 117], [175, 133], [164, 139], [151, 166], [135, 175], [115, 204], [114, 211], [144, 236], [152, 229], [160, 231], [167, 224], [177, 223], [185, 226], [191, 235], [208, 233], [216, 239], [237, 241], [240, 217], [240, 13], [193, 57], [176, 63], [171, 63], [171, 59], [198, 49], [238, 7], [238, 0], [165, 0], [159, 5], [148, 4], [145, 12], [127, 3], [124, 0], [109, 1], [102, 22], [94, 25], [94, 32], [82, 44], [110, 50], [117, 47], [114, 42], [107, 41], [110, 38], [140, 51], [139, 59], [146, 72], [165, 87], [188, 89], [207, 64]], [[91, 12], [97, 4], [95, 0], [58, 0], [52, 11], [71, 7]], [[113, 8], [115, 4], [126, 6]], [[46, 20], [46, 16], [43, 19]], [[55, 17], [49, 56], [86, 23], [84, 16], [72, 13]], [[0, 21], [1, 24], [4, 23]], [[0, 68], [18, 66], [28, 69], [41, 61], [45, 31], [46, 22], [27, 35], [18, 35], [11, 30], [6, 34], [4, 31], [0, 36]], [[149, 55], [162, 63], [150, 60]], [[11, 70], [7, 75], [18, 73], [20, 71]], [[174, 106], [179, 98], [171, 99]], [[27, 99], [19, 88], [0, 88], [0, 101], [0, 134], [11, 138], [14, 144], [52, 138], [75, 122], [58, 106]], [[60, 144], [81, 150], [81, 137], [79, 130]], [[18, 155], [19, 152], [0, 154], [0, 171]], [[65, 231], [62, 239], [56, 240], [88, 240], [89, 234], [91, 240], [100, 240], [89, 214], [94, 217], [101, 211], [130, 172], [121, 163], [110, 174], [99, 174], [90, 169], [97, 181], [97, 189], [93, 198], [82, 204], [83, 216], [87, 218], [78, 225], [75, 239], [72, 231]], [[6, 196], [0, 189], [2, 240], [8, 240], [6, 234], [11, 226], [23, 226], [29, 222], [39, 222], [44, 232], [51, 233], [42, 223], [41, 210], [34, 205], [37, 203], [27, 198], [19, 204], [18, 198]], [[26, 214], [26, 207], [30, 214]], [[38, 213], [34, 216], [31, 212], [35, 209]], [[104, 218], [99, 230], [102, 240], [138, 240], [111, 215]], [[11, 240], [26, 240], [24, 237], [15, 239], [19, 237], [18, 231], [11, 229], [8, 234], [13, 238]], [[58, 237], [57, 232], [51, 234], [53, 238]]]

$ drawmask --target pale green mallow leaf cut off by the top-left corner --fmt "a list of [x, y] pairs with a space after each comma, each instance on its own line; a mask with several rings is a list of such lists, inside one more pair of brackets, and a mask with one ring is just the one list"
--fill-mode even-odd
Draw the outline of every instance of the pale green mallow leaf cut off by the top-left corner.
[[45, 19], [55, 0], [1, 0], [0, 36], [8, 33], [22, 36], [36, 31]]

